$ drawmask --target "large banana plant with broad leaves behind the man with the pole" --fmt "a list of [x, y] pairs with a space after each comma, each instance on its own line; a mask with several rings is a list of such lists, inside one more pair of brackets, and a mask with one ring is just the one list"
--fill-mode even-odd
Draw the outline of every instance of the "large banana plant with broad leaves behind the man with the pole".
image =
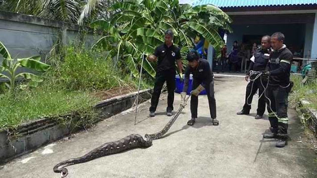
[[[93, 11], [103, 0], [94, 2]], [[86, 9], [87, 10], [87, 9]], [[100, 19], [91, 25], [103, 30], [102, 37], [95, 46], [113, 46], [112, 55], [116, 60], [125, 60], [131, 73], [138, 76], [140, 55], [153, 54], [155, 47], [163, 43], [164, 31], [174, 32], [174, 44], [181, 47], [181, 53], [193, 48], [196, 36], [204, 37], [217, 52], [223, 47], [219, 29], [231, 32], [232, 20], [214, 5], [179, 4], [178, 0], [123, 0], [108, 9], [109, 19]], [[82, 13], [82, 18], [85, 14]], [[146, 60], [144, 69], [155, 76], [155, 70]]]

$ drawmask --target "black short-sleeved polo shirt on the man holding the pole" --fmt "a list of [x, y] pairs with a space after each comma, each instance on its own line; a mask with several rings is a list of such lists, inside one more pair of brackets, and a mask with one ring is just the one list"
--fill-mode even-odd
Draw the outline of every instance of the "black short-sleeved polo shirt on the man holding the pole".
[[157, 72], [175, 72], [175, 61], [181, 59], [180, 49], [171, 45], [159, 45], [154, 52], [154, 55], [158, 57]]

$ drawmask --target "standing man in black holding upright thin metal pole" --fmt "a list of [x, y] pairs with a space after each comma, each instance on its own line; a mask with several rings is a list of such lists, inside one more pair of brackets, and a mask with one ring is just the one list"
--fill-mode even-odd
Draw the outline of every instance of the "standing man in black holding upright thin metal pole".
[[[156, 81], [154, 85], [154, 91], [151, 99], [151, 107], [150, 107], [150, 116], [155, 116], [155, 111], [157, 109], [159, 103], [159, 95], [160, 91], [163, 87], [164, 82], [166, 81], [166, 86], [168, 90], [167, 96], [167, 108], [166, 115], [171, 116], [174, 102], [174, 90], [175, 90], [175, 62], [177, 62], [177, 66], [180, 72], [180, 77], [182, 79], [182, 61], [180, 49], [173, 45], [173, 32], [171, 30], [167, 30], [165, 32], [165, 43], [163, 45], [159, 45], [154, 52], [154, 55], [150, 55], [148, 57], [149, 61], [156, 62], [158, 61]], [[159, 58], [159, 60], [157, 60]]]

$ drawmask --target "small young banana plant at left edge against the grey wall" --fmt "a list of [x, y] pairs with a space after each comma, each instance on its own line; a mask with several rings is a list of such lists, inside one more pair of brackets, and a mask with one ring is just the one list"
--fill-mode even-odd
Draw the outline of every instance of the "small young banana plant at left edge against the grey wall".
[[[34, 83], [39, 83], [43, 81], [39, 76], [32, 73], [28, 73], [28, 72], [17, 73], [17, 69], [19, 67], [33, 69], [38, 72], [45, 72], [50, 68], [50, 65], [40, 62], [40, 59], [41, 59], [40, 56], [20, 58], [17, 60], [12, 59], [9, 51], [1, 42], [0, 42], [0, 54], [3, 57], [2, 65], [0, 65], [0, 78], [6, 78], [9, 81], [9, 84], [7, 83], [5, 84], [10, 89], [10, 91], [12, 91], [15, 88], [15, 81], [18, 78], [31, 80]], [[6, 72], [6, 74], [3, 74], [2, 72]]]

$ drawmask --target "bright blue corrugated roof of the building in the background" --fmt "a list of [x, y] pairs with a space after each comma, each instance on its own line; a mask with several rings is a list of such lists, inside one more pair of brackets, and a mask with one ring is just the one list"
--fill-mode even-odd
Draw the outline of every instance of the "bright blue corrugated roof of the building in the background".
[[218, 7], [252, 7], [273, 5], [309, 5], [317, 0], [196, 0], [193, 5], [213, 4]]

